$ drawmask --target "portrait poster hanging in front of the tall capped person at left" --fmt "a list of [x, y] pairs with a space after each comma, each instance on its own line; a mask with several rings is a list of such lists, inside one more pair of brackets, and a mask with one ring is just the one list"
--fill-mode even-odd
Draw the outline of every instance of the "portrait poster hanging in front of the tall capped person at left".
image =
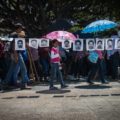
[[15, 38], [15, 50], [25, 50], [24, 38]]

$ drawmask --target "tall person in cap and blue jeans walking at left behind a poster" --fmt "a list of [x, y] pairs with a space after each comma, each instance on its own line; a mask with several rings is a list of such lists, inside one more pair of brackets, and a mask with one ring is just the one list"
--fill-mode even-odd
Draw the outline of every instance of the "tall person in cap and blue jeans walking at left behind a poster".
[[[15, 32], [11, 34], [11, 37], [14, 38], [24, 38], [25, 32], [23, 31], [23, 27], [20, 24], [15, 25]], [[14, 43], [13, 43], [14, 45]], [[13, 47], [12, 47], [13, 48]], [[28, 75], [27, 75], [27, 69], [23, 60], [22, 53], [24, 51], [15, 51], [12, 50], [13, 53], [13, 59], [10, 65], [10, 69], [8, 71], [8, 74], [6, 76], [5, 81], [9, 82], [11, 80], [11, 77], [13, 76], [13, 82], [14, 84], [17, 84], [18, 74], [21, 73], [21, 89], [27, 88], [27, 82], [29, 81]]]

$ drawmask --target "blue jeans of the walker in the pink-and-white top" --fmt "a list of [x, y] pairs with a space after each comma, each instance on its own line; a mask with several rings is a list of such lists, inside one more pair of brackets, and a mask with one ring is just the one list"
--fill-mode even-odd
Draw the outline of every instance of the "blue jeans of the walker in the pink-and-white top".
[[51, 75], [50, 75], [50, 87], [53, 87], [53, 81], [59, 80], [61, 86], [64, 85], [62, 72], [59, 70], [59, 64], [58, 63], [51, 63]]

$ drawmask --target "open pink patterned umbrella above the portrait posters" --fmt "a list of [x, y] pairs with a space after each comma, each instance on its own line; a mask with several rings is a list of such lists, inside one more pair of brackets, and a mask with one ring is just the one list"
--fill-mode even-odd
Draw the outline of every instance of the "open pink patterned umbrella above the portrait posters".
[[71, 41], [76, 40], [76, 37], [72, 33], [67, 32], [67, 31], [50, 32], [45, 37], [48, 38], [48, 39], [51, 39], [51, 40], [57, 39], [60, 42], [64, 39], [68, 39], [68, 40], [71, 40]]

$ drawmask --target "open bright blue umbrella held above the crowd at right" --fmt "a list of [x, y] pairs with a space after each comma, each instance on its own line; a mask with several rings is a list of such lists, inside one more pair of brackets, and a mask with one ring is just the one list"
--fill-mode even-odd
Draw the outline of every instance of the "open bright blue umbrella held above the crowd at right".
[[116, 27], [115, 22], [109, 20], [98, 20], [87, 25], [82, 33], [95, 33]]

